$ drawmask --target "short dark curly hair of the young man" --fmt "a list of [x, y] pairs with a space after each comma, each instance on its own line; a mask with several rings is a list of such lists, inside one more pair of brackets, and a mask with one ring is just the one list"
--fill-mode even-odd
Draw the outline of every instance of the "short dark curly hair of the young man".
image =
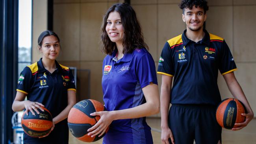
[[195, 7], [201, 7], [202, 9], [204, 9], [204, 14], [205, 14], [206, 11], [208, 11], [208, 9], [209, 9], [206, 0], [182, 0], [182, 1], [180, 2], [179, 6], [180, 6], [180, 9], [183, 10], [183, 13], [184, 13], [184, 11], [185, 11], [186, 8], [192, 9], [193, 6], [195, 6]]

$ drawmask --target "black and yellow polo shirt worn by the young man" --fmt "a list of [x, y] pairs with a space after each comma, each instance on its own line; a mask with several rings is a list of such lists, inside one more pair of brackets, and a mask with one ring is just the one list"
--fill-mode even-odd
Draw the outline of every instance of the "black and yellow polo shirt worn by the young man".
[[194, 42], [185, 30], [163, 47], [157, 73], [174, 77], [171, 103], [217, 105], [221, 102], [218, 70], [222, 75], [236, 70], [224, 39], [204, 32], [204, 38]]

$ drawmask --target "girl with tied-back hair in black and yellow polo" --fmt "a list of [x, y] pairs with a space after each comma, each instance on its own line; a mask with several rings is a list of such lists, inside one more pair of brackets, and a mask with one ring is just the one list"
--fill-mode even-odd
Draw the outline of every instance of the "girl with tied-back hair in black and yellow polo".
[[[46, 107], [53, 117], [52, 131], [43, 138], [33, 138], [24, 133], [24, 144], [68, 144], [67, 116], [76, 103], [74, 77], [69, 67], [60, 65], [59, 37], [53, 31], [44, 31], [38, 38], [42, 58], [26, 66], [20, 74], [13, 111], [38, 113]], [[24, 100], [27, 96], [27, 100]]]

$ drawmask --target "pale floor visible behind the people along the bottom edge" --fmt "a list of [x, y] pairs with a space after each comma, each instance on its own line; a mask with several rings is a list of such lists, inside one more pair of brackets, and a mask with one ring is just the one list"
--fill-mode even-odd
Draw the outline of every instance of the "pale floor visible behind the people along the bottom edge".
[[[161, 144], [161, 120], [160, 118], [147, 118], [147, 123], [152, 127], [152, 135], [154, 144]], [[239, 131], [231, 131], [223, 129], [222, 131], [223, 144], [256, 144], [256, 118], [254, 118], [247, 127]], [[77, 140], [71, 134], [69, 136], [69, 144], [87, 144]], [[89, 143], [88, 143], [89, 144]], [[102, 144], [102, 139], [90, 144]]]

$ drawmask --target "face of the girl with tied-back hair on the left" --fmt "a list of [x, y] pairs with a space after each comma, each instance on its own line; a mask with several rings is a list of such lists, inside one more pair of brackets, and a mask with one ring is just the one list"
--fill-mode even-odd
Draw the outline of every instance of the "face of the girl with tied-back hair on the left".
[[43, 54], [43, 59], [55, 60], [59, 55], [59, 41], [54, 35], [47, 36], [39, 47], [39, 52]]

